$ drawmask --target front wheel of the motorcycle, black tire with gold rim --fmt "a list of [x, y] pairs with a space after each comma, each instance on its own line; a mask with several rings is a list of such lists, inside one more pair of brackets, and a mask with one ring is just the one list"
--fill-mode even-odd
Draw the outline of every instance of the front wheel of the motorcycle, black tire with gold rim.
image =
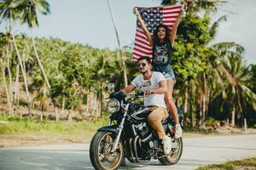
[[119, 142], [116, 152], [110, 154], [114, 139], [116, 139], [115, 133], [97, 132], [91, 140], [90, 162], [96, 170], [117, 169], [122, 163], [124, 157], [124, 145], [122, 142]]

